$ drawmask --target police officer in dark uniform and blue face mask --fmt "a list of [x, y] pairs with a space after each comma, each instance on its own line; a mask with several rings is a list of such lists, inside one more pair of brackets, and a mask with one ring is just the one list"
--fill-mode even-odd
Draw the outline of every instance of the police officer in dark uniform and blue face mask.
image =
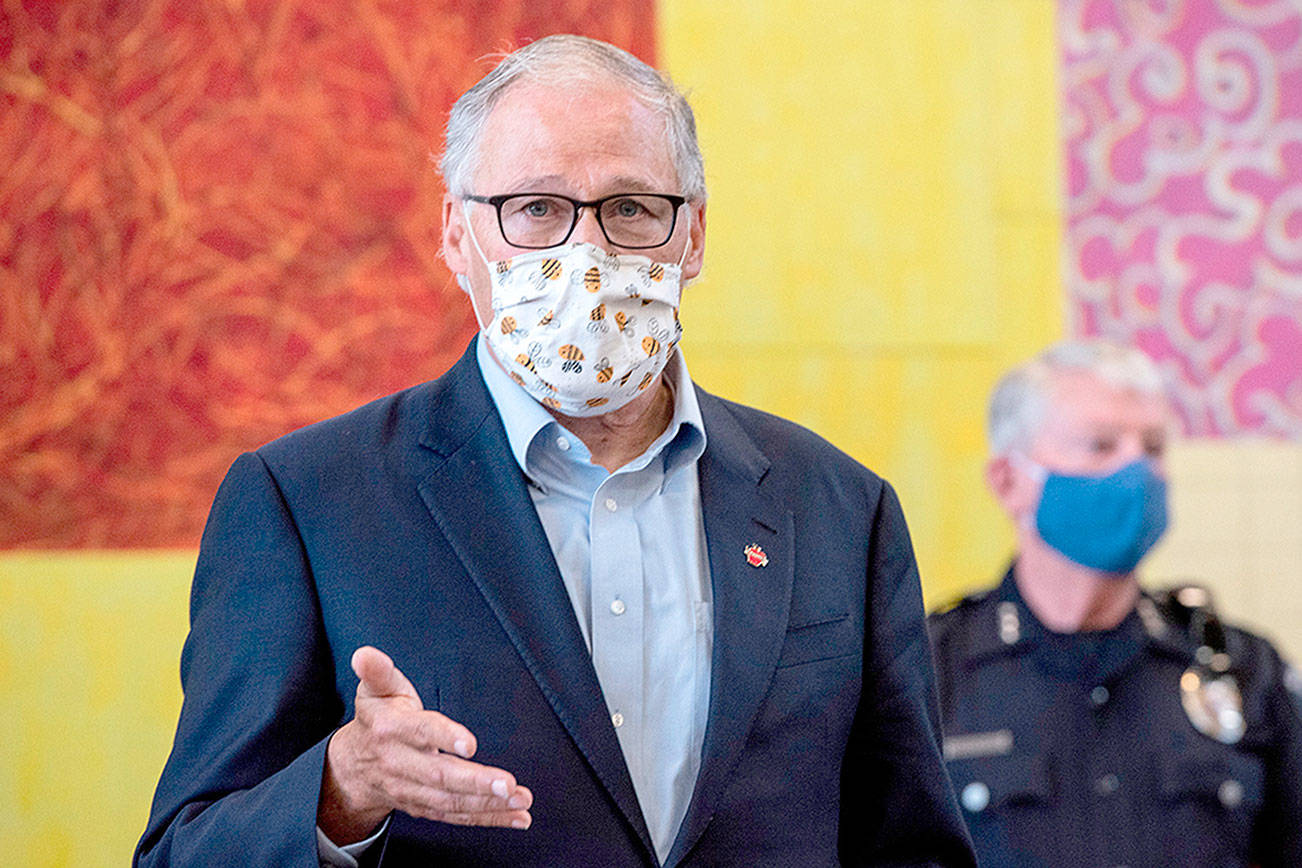
[[1155, 366], [1056, 345], [990, 406], [999, 587], [931, 617], [944, 752], [986, 865], [1302, 865], [1302, 699], [1206, 595], [1148, 595], [1167, 523]]

